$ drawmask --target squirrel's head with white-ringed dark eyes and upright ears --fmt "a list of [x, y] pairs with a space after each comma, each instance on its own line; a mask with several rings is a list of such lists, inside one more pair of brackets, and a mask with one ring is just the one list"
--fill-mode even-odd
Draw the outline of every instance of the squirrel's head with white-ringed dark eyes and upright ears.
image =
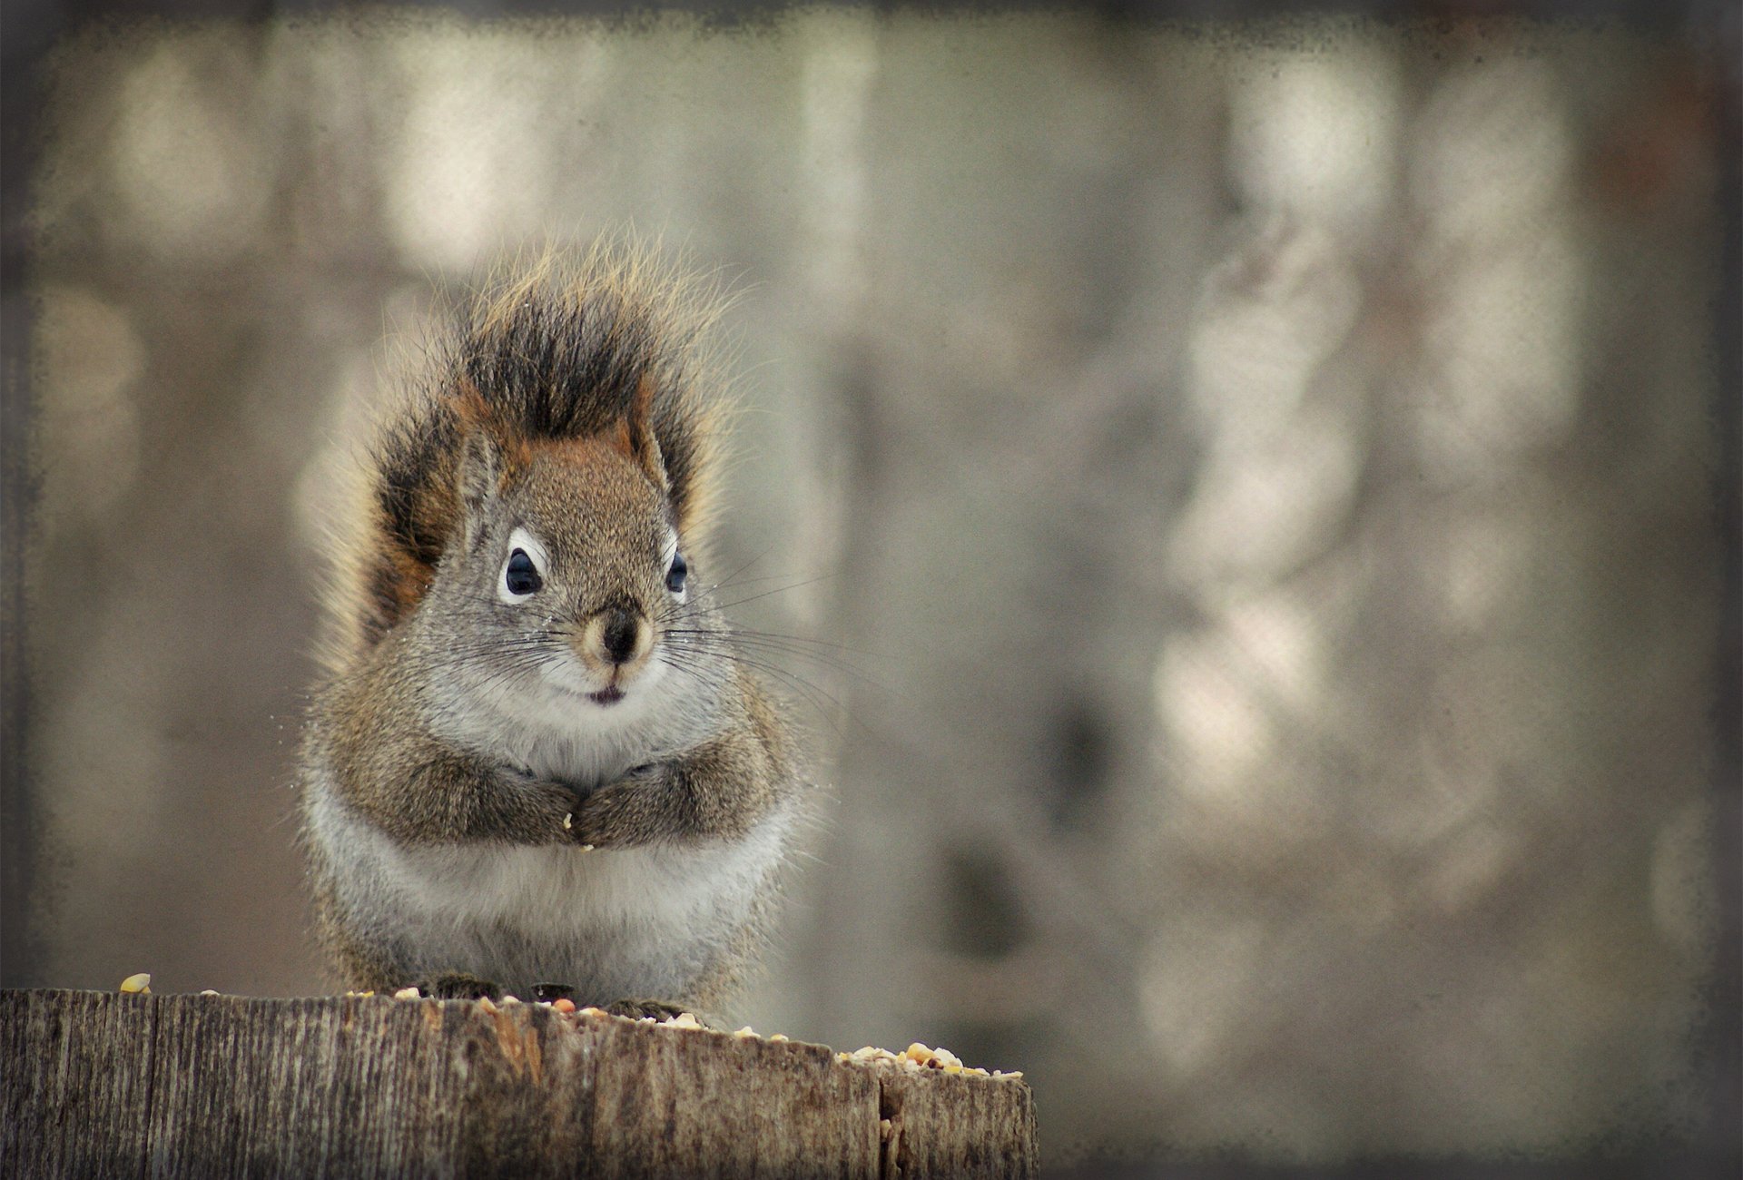
[[607, 429], [525, 441], [458, 397], [458, 530], [431, 600], [465, 621], [457, 641], [479, 645], [467, 662], [495, 692], [641, 713], [673, 664], [666, 631], [695, 626], [650, 399], [643, 382]]

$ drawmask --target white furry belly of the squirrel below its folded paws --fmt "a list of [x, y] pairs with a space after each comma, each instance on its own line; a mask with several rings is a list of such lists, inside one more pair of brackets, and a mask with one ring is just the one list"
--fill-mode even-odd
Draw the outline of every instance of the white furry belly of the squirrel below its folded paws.
[[[413, 978], [465, 971], [526, 997], [683, 997], [730, 953], [783, 858], [790, 819], [702, 847], [410, 847], [328, 800], [312, 830], [349, 828], [336, 892]], [[363, 854], [359, 856], [359, 849]]]

